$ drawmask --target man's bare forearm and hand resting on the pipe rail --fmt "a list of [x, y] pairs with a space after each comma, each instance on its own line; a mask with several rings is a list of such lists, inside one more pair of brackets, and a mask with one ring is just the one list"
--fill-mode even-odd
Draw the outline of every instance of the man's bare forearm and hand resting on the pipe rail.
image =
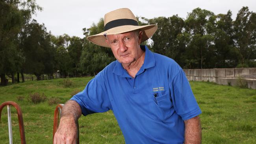
[[54, 144], [75, 144], [77, 137], [77, 120], [81, 116], [80, 105], [73, 100], [65, 103], [61, 109], [59, 127], [54, 135]]

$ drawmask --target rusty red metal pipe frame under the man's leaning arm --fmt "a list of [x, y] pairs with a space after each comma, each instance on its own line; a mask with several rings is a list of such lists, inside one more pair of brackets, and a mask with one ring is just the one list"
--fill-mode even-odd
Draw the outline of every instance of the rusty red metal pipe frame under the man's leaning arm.
[[[59, 104], [56, 106], [54, 111], [54, 119], [53, 119], [53, 135], [52, 135], [52, 142], [54, 141], [54, 135], [58, 129], [59, 126], [59, 119], [61, 114], [61, 109], [63, 108], [64, 104]], [[76, 144], [79, 144], [79, 125], [77, 122], [77, 138], [76, 138]]]

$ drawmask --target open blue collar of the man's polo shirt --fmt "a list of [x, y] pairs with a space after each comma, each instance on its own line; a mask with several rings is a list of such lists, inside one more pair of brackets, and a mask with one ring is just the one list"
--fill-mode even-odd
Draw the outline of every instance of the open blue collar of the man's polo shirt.
[[[143, 51], [145, 51], [145, 59], [144, 59], [144, 63], [141, 66], [141, 68], [147, 69], [147, 68], [154, 67], [156, 65], [156, 60], [154, 58], [154, 54], [148, 49], [147, 46], [141, 45], [140, 47]], [[127, 74], [126, 70], [122, 67], [122, 64], [117, 60], [116, 60], [115, 67], [113, 69], [113, 73], [117, 74], [118, 76], [130, 77]]]

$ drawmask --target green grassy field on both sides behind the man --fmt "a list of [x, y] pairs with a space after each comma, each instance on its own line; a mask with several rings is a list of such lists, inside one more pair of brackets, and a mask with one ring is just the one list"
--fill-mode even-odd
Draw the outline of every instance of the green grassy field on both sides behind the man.
[[[28, 144], [52, 143], [52, 126], [57, 98], [60, 103], [83, 90], [91, 78], [70, 78], [72, 85], [65, 87], [63, 79], [27, 81], [0, 87], [0, 103], [17, 102], [22, 108], [26, 142]], [[209, 82], [190, 82], [202, 110], [203, 144], [255, 144], [256, 143], [256, 90], [215, 85]], [[34, 104], [29, 94], [38, 92], [48, 98]], [[19, 100], [20, 98], [23, 100]], [[20, 143], [17, 114], [12, 107], [13, 143]], [[111, 111], [82, 116], [79, 119], [81, 144], [120, 144], [124, 138]], [[8, 144], [6, 107], [0, 123], [0, 143]]]

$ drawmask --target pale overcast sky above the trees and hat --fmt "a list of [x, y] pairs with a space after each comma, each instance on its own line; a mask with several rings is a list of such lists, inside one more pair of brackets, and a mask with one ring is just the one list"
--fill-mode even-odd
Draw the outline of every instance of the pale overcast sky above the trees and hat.
[[105, 13], [128, 7], [135, 16], [154, 18], [178, 15], [186, 18], [187, 13], [200, 7], [215, 15], [232, 11], [233, 20], [243, 6], [256, 12], [256, 0], [37, 0], [43, 11], [37, 11], [33, 19], [44, 23], [53, 35], [83, 37], [83, 28], [90, 28], [103, 18]]

